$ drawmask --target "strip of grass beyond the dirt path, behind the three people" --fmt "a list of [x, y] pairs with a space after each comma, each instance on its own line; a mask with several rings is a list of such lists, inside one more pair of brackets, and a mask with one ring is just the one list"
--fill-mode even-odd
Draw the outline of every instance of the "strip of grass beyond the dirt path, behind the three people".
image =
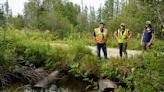
[[[71, 39], [65, 39], [65, 40], [54, 40], [55, 43], [62, 43], [62, 44], [74, 44], [74, 43], [81, 43], [83, 45], [89, 45], [89, 46], [95, 46], [96, 43], [92, 39], [92, 35], [89, 35], [88, 37], [81, 37], [81, 38], [71, 38]], [[129, 50], [141, 50], [141, 37], [132, 36], [132, 38], [128, 42], [128, 49]], [[109, 36], [109, 40], [107, 42], [108, 48], [118, 48], [118, 42], [114, 38], [112, 34]], [[163, 46], [163, 42], [160, 39], [155, 39], [153, 41], [152, 48], [155, 49], [156, 47]]]

